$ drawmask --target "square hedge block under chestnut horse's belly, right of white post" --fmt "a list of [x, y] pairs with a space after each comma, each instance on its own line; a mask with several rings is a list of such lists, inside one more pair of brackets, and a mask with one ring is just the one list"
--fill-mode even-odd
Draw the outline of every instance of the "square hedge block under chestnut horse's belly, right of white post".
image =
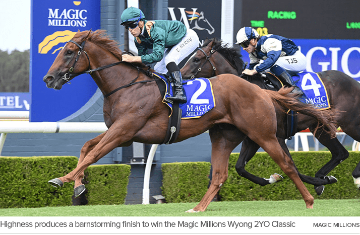
[[162, 195], [167, 203], [199, 202], [207, 191], [211, 164], [164, 163]]

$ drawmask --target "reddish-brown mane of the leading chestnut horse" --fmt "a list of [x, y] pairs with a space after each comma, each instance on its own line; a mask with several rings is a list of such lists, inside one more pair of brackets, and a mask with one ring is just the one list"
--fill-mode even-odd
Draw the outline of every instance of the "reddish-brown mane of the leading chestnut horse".
[[[75, 38], [80, 38], [84, 35], [89, 34], [87, 39], [93, 43], [95, 43], [98, 46], [103, 47], [104, 49], [111, 52], [116, 58], [118, 58], [120, 61], [122, 61], [122, 55], [123, 52], [119, 49], [119, 43], [111, 38], [110, 35], [107, 35], [106, 30], [96, 30], [92, 31], [89, 34], [89, 31], [82, 31], [75, 34]], [[147, 69], [148, 66], [144, 63], [134, 63], [140, 68]]]

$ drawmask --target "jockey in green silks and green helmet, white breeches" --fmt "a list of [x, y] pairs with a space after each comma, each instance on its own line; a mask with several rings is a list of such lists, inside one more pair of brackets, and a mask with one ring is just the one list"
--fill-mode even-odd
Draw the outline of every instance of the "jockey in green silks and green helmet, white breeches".
[[[144, 13], [134, 7], [125, 9], [121, 20], [121, 24], [135, 37], [139, 55], [124, 54], [123, 61], [157, 62], [154, 69], [160, 73], [169, 71], [175, 86], [174, 95], [168, 100], [186, 103], [183, 78], [177, 65], [199, 46], [199, 37], [196, 32], [187, 29], [179, 21], [147, 21]], [[152, 49], [151, 53], [149, 49]]]

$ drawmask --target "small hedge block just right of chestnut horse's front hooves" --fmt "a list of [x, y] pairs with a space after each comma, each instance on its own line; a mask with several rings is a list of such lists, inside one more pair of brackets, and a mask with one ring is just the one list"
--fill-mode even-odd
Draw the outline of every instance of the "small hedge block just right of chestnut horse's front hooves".
[[88, 205], [124, 204], [131, 166], [94, 165], [85, 171]]

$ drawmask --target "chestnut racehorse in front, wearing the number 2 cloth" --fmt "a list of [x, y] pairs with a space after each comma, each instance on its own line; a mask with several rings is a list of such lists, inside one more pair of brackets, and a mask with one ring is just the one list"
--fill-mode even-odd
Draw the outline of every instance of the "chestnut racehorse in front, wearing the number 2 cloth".
[[[104, 30], [79, 31], [59, 52], [43, 77], [48, 88], [59, 90], [76, 75], [90, 73], [104, 95], [104, 121], [108, 130], [84, 144], [76, 169], [49, 181], [56, 187], [75, 181], [75, 196], [85, 190], [81, 182], [84, 170], [115, 147], [128, 146], [133, 141], [159, 144], [165, 138], [169, 110], [162, 103], [154, 77], [143, 72], [143, 64], [121, 60], [122, 51]], [[210, 81], [216, 107], [201, 118], [182, 120], [176, 140], [183, 141], [209, 130], [212, 143], [212, 182], [200, 203], [189, 212], [207, 208], [227, 178], [229, 154], [246, 136], [269, 153], [294, 182], [306, 207], [312, 208], [314, 198], [277, 141], [274, 107], [278, 111], [291, 108], [316, 117], [329, 126], [330, 134], [335, 136], [336, 127], [328, 121], [333, 112], [319, 112], [298, 102], [295, 95], [289, 93], [291, 89], [262, 90], [232, 74], [219, 75]]]

